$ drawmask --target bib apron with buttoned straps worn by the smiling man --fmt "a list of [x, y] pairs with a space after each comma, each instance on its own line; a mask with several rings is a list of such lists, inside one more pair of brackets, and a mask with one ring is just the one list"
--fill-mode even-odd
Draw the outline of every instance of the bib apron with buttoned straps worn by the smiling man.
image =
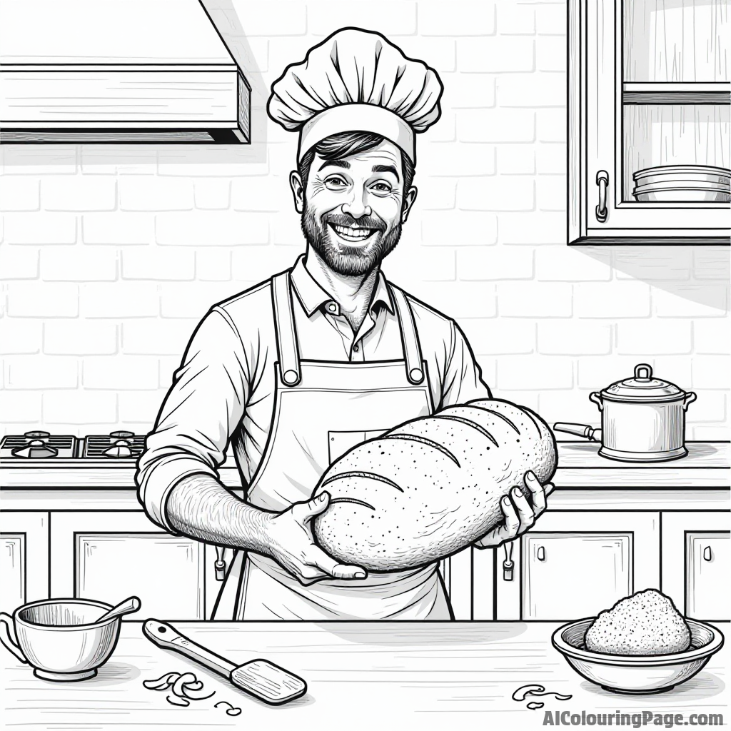
[[[280, 512], [309, 500], [331, 462], [395, 425], [431, 414], [426, 363], [404, 292], [389, 285], [404, 360], [300, 360], [289, 271], [272, 279], [279, 361], [275, 405], [247, 501]], [[220, 620], [453, 618], [437, 564], [303, 586], [272, 558], [235, 553], [213, 609]]]

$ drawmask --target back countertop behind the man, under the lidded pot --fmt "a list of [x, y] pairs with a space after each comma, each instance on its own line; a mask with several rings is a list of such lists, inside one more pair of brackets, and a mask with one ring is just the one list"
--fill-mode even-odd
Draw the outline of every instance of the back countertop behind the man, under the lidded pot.
[[[724, 489], [731, 485], [729, 442], [686, 442], [689, 454], [656, 463], [618, 462], [600, 457], [596, 442], [558, 442], [557, 488]], [[47, 459], [0, 463], [0, 487], [135, 489], [136, 468], [110, 459]], [[232, 458], [219, 467], [224, 485], [240, 488]]]

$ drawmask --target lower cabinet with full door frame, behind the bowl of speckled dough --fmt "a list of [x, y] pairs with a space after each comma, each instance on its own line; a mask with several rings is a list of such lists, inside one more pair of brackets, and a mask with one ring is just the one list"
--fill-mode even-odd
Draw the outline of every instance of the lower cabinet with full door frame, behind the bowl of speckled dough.
[[496, 619], [596, 616], [658, 587], [659, 526], [659, 512], [545, 513], [537, 529], [495, 552]]

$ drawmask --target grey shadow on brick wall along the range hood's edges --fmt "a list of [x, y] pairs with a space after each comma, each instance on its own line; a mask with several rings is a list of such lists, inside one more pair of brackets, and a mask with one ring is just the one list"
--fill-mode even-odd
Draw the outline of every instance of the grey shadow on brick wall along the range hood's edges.
[[[251, 86], [251, 140], [249, 145], [10, 145], [4, 146], [6, 165], [21, 167], [61, 167], [75, 165], [79, 155], [85, 169], [94, 165], [135, 166], [145, 164], [238, 164], [267, 162], [266, 104], [269, 87], [265, 84], [257, 58], [251, 50], [232, 0], [204, 0], [216, 29], [224, 38], [234, 60]], [[49, 171], [50, 172], [50, 171]], [[262, 174], [263, 171], [262, 171]]]

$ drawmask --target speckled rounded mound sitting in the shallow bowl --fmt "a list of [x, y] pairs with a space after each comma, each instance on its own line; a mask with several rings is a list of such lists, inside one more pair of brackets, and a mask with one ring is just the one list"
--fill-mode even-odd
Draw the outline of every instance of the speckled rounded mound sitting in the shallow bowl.
[[586, 631], [586, 649], [610, 655], [665, 655], [690, 646], [690, 629], [673, 600], [638, 591], [599, 614]]

